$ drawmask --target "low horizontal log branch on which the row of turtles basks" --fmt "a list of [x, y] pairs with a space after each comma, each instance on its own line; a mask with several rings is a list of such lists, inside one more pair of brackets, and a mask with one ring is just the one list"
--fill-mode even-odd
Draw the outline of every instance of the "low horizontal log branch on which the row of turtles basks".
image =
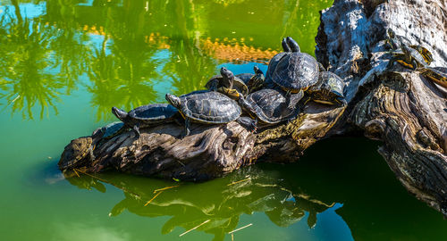
[[180, 138], [183, 127], [175, 124], [141, 129], [139, 139], [130, 131], [98, 145], [94, 160], [87, 154], [72, 163], [73, 156], [79, 153], [73, 153], [72, 148], [79, 148], [80, 140], [93, 138], [93, 143], [97, 142], [97, 137], [81, 137], [65, 147], [59, 165], [70, 163], [63, 169], [114, 169], [167, 179], [213, 179], [259, 159], [296, 161], [309, 145], [325, 137], [344, 108], [309, 102], [296, 120], [265, 127], [256, 134], [235, 121], [224, 125], [193, 124], [190, 136], [184, 138]]

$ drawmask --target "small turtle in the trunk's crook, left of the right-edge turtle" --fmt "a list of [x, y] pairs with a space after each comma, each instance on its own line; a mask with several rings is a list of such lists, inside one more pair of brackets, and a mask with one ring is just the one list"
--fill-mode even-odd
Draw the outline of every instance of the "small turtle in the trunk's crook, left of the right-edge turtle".
[[390, 64], [399, 62], [402, 66], [416, 71], [419, 68], [427, 66], [424, 56], [416, 49], [401, 43], [401, 49], [392, 52], [392, 60]]

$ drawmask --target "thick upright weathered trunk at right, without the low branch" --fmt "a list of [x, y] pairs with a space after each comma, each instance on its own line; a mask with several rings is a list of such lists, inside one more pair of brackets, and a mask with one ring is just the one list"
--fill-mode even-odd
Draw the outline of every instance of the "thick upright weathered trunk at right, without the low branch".
[[447, 66], [444, 1], [335, 1], [322, 12], [317, 58], [342, 76], [350, 107], [333, 133], [354, 126], [380, 139], [379, 152], [410, 193], [447, 214], [446, 90], [418, 71], [387, 68], [385, 30], [434, 54]]

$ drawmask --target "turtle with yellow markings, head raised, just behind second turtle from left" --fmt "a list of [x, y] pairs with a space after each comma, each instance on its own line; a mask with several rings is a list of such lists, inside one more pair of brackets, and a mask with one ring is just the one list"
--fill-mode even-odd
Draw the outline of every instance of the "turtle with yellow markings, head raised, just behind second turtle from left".
[[247, 96], [249, 94], [249, 87], [242, 79], [235, 78], [232, 71], [222, 67], [220, 72], [220, 75], [215, 75], [208, 80], [205, 85], [207, 89], [221, 92], [233, 99], [239, 99], [239, 95]]

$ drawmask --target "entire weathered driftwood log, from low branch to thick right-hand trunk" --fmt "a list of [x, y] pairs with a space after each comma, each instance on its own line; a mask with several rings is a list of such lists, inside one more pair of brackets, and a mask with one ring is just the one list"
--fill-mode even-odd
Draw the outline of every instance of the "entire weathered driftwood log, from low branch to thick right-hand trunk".
[[[346, 83], [348, 107], [308, 102], [296, 120], [249, 133], [236, 122], [182, 127], [166, 124], [114, 137], [85, 155], [80, 137], [65, 147], [62, 169], [121, 170], [168, 179], [205, 180], [255, 162], [295, 162], [309, 145], [333, 135], [364, 133], [382, 140], [380, 154], [410, 193], [447, 215], [447, 90], [418, 71], [389, 65], [386, 29], [447, 66], [447, 4], [432, 1], [335, 0], [322, 11], [316, 58]], [[87, 146], [87, 145], [86, 145]], [[79, 155], [78, 155], [79, 156]], [[67, 163], [76, 163], [69, 165]]]

